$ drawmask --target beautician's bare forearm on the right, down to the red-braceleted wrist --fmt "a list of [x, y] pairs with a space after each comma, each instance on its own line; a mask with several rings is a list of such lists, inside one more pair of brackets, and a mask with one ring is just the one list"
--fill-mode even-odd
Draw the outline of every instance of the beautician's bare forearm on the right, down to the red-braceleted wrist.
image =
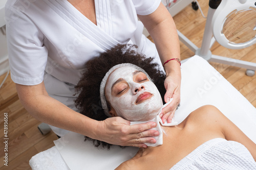
[[[139, 18], [153, 38], [162, 64], [172, 58], [180, 59], [179, 37], [174, 20], [167, 9], [161, 4], [154, 13]], [[165, 64], [164, 69], [166, 75], [180, 74], [179, 63], [175, 60]]]

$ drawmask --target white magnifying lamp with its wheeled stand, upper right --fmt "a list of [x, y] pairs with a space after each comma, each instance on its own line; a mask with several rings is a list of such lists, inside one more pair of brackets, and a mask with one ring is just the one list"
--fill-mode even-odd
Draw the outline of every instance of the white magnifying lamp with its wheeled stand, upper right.
[[200, 48], [181, 32], [177, 32], [181, 42], [196, 55], [209, 62], [246, 68], [246, 75], [254, 76], [256, 63], [214, 55], [210, 48], [215, 40], [231, 49], [241, 49], [256, 43], [256, 0], [209, 0]]

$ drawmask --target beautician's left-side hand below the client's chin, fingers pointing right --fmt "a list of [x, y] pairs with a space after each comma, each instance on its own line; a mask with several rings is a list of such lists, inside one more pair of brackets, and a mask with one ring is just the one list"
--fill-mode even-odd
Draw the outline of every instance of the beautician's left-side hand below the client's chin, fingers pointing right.
[[158, 131], [149, 130], [154, 127], [156, 127], [154, 122], [130, 126], [128, 120], [121, 117], [110, 117], [99, 121], [96, 136], [98, 136], [98, 140], [111, 144], [146, 148], [144, 143], [155, 143], [156, 139], [151, 136], [159, 135]]

